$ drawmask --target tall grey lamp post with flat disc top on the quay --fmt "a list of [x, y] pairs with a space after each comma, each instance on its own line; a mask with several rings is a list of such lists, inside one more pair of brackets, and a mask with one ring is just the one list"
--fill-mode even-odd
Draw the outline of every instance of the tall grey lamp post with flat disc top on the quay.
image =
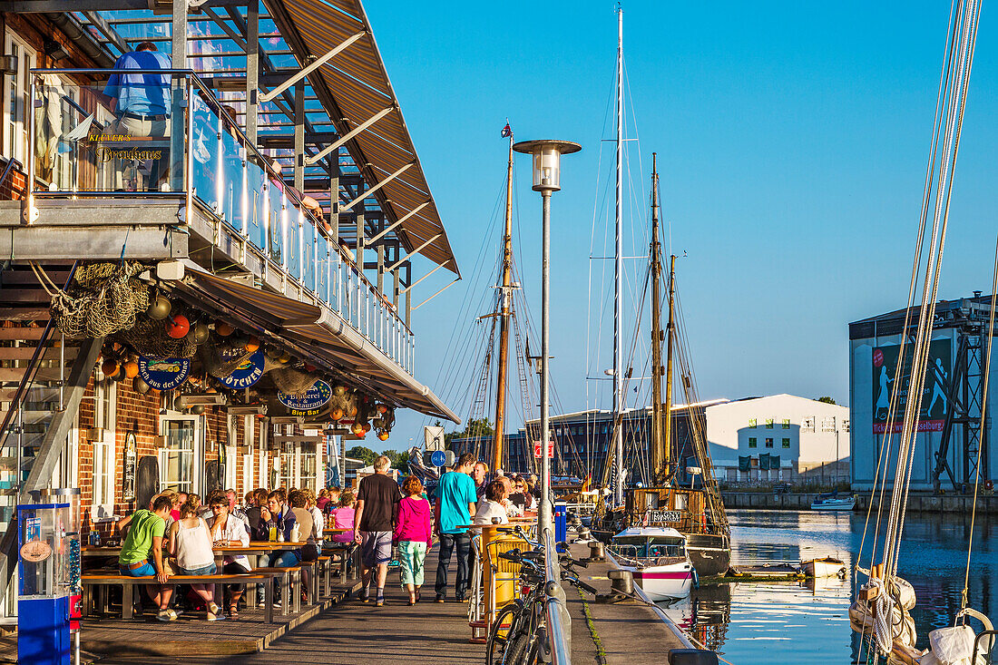
[[543, 541], [545, 529], [551, 528], [551, 462], [548, 459], [548, 314], [550, 311], [550, 256], [551, 256], [551, 193], [561, 189], [561, 156], [577, 153], [582, 146], [571, 141], [543, 139], [521, 141], [513, 146], [518, 153], [533, 156], [535, 192], [541, 193], [543, 202], [541, 246], [541, 505], [538, 527]]

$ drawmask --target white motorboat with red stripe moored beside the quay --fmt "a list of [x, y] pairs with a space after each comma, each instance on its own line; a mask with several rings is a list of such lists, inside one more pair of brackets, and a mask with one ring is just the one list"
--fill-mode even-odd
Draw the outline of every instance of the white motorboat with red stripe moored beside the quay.
[[686, 537], [676, 529], [638, 526], [624, 529], [610, 542], [622, 570], [630, 570], [650, 600], [677, 600], [690, 595], [694, 570]]

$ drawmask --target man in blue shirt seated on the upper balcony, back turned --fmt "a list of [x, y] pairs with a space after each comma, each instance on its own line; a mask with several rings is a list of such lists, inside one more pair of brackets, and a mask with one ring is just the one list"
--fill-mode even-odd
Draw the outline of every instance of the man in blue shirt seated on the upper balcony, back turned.
[[[164, 175], [162, 165], [164, 152], [169, 152], [163, 142], [155, 141], [170, 136], [170, 109], [172, 106], [172, 89], [170, 74], [128, 74], [128, 70], [160, 70], [173, 67], [170, 57], [160, 53], [153, 42], [142, 42], [135, 51], [126, 53], [115, 62], [115, 69], [120, 74], [112, 74], [104, 87], [104, 94], [111, 98], [110, 107], [118, 118], [112, 126], [111, 133], [116, 135], [112, 141], [125, 141], [121, 137], [129, 137], [126, 143], [118, 148], [134, 149], [135, 160], [128, 157], [119, 158], [124, 162], [146, 162], [149, 154], [159, 153], [159, 159], [149, 160], [149, 178], [146, 189], [155, 190], [160, 178]], [[120, 151], [119, 151], [120, 152]], [[129, 153], [129, 151], [125, 151]], [[117, 155], [117, 152], [114, 153]], [[133, 184], [124, 176], [124, 164], [117, 169], [116, 188], [138, 189], [138, 183]], [[126, 183], [126, 181], [129, 181]], [[128, 187], [126, 187], [128, 185]]]

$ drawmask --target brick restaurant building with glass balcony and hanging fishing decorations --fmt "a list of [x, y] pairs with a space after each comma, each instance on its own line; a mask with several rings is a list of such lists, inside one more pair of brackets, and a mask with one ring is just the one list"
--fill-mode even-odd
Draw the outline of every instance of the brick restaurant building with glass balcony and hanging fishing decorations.
[[0, 9], [0, 622], [29, 490], [100, 530], [457, 421], [410, 324], [460, 274], [359, 0]]

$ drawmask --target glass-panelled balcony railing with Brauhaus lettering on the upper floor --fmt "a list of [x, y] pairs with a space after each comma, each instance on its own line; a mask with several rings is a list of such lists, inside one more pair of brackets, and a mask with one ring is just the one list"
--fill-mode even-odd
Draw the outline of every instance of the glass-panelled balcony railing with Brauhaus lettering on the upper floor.
[[[279, 165], [250, 144], [236, 109], [194, 72], [32, 75], [33, 197], [181, 199], [187, 220], [197, 207], [242, 238], [264, 270], [281, 276], [284, 293], [321, 304], [414, 372], [412, 332], [313, 201], [286, 185]], [[218, 237], [209, 240], [218, 244]]]

